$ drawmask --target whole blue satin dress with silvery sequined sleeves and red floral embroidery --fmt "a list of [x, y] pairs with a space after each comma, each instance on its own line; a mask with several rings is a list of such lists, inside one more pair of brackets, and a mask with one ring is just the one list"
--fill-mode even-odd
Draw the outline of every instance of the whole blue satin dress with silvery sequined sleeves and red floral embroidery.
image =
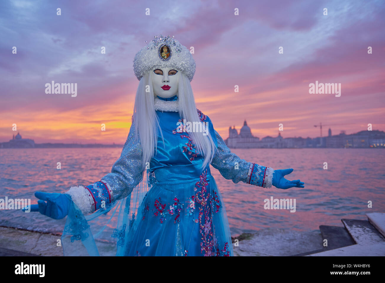
[[[164, 100], [176, 99], [174, 96]], [[101, 232], [94, 231], [91, 223], [105, 217], [108, 223], [116, 219], [116, 228], [111, 233], [111, 239], [116, 240], [116, 255], [233, 255], [223, 198], [209, 165], [201, 168], [204, 158], [196, 151], [192, 139], [187, 132], [177, 131], [177, 122], [181, 121], [179, 112], [156, 111], [156, 114], [164, 143], [159, 133], [157, 152], [146, 173], [141, 169], [140, 140], [135, 140], [131, 126], [121, 157], [111, 173], [86, 187], [94, 200], [95, 212], [84, 216], [74, 204], [62, 239], [70, 236], [65, 243], [81, 240], [90, 255], [99, 255], [95, 235]], [[199, 110], [198, 116], [201, 122], [208, 123], [209, 134], [217, 147], [211, 165], [224, 178], [234, 183], [271, 186], [271, 168], [246, 162], [231, 153], [209, 117]], [[141, 185], [143, 179], [146, 184]], [[105, 208], [102, 201], [107, 203]]]

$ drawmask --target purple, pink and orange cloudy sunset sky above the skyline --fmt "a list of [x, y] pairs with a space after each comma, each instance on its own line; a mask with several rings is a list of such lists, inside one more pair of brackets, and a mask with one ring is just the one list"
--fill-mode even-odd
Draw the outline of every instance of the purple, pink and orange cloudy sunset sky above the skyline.
[[[283, 137], [319, 136], [320, 122], [324, 136], [385, 130], [384, 1], [5, 0], [0, 23], [0, 142], [15, 123], [37, 143], [123, 144], [134, 55], [160, 34], [194, 47], [196, 104], [224, 139], [244, 119], [259, 138], [280, 123]], [[46, 94], [52, 80], [77, 97]], [[341, 96], [309, 94], [316, 80]]]

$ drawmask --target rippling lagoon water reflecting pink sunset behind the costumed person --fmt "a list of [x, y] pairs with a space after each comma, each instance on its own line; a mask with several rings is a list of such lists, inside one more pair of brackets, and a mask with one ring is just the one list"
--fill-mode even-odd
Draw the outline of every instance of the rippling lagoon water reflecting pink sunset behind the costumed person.
[[[343, 226], [341, 218], [367, 219], [385, 212], [383, 149], [233, 149], [239, 157], [273, 169], [293, 168], [287, 179], [305, 188], [287, 190], [234, 184], [211, 167], [229, 218], [231, 234], [263, 228], [311, 231], [319, 225]], [[99, 181], [120, 156], [119, 148], [0, 149], [0, 198], [30, 198], [35, 191], [64, 193], [70, 186]], [[57, 170], [61, 162], [61, 170]], [[323, 169], [323, 163], [328, 169]], [[292, 198], [296, 211], [264, 209], [264, 199]], [[368, 208], [368, 202], [372, 208]], [[61, 233], [65, 219], [39, 213], [0, 210], [0, 225]]]

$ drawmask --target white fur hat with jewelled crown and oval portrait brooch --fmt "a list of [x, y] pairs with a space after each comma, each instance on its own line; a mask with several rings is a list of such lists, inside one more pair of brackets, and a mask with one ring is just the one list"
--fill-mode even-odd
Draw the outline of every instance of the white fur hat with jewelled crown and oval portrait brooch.
[[[145, 41], [147, 43], [147, 41]], [[134, 58], [134, 73], [138, 80], [156, 68], [175, 68], [192, 80], [195, 60], [186, 46], [171, 36], [155, 36]]]

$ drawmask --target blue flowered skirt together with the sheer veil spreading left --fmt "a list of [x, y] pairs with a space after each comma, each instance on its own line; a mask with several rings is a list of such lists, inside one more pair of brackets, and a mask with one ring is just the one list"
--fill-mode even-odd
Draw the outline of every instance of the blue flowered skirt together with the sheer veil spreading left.
[[[105, 248], [110, 241], [114, 249]], [[138, 186], [126, 199], [88, 216], [73, 203], [62, 243], [65, 255], [81, 250], [93, 256], [233, 255], [223, 199], [209, 169], [182, 178], [157, 174], [150, 187]]]

